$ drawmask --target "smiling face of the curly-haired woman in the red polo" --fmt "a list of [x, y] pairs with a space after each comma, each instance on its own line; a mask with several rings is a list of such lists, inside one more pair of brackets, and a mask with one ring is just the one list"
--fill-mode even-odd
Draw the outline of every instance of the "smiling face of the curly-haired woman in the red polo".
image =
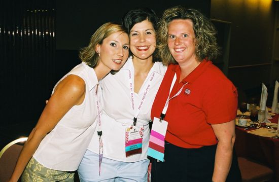
[[191, 20], [176, 19], [168, 24], [167, 45], [172, 57], [179, 63], [195, 60], [195, 33]]

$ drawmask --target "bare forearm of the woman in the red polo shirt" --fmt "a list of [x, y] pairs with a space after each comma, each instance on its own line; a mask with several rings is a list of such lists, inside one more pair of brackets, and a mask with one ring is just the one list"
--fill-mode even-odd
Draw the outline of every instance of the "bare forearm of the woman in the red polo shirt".
[[218, 139], [212, 180], [225, 182], [232, 163], [232, 151], [235, 140], [235, 121], [214, 124], [212, 128]]

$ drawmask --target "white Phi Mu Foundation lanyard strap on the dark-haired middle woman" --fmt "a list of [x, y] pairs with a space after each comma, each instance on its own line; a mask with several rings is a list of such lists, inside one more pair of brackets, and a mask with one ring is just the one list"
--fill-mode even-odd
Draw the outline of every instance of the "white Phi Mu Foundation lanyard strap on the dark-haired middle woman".
[[[135, 108], [134, 108], [134, 91], [133, 91], [133, 88], [134, 88], [134, 87], [133, 87], [133, 82], [132, 82], [133, 78], [132, 78], [131, 75], [132, 75], [132, 74], [131, 74], [131, 71], [129, 70], [130, 99], [131, 99], [131, 107], [132, 107], [132, 110], [134, 110], [134, 109], [135, 109]], [[141, 112], [141, 108], [142, 108], [143, 103], [144, 103], [144, 101], [145, 101], [146, 95], [147, 95], [147, 93], [149, 92], [151, 83], [152, 83], [152, 81], [154, 80], [154, 76], [155, 76], [155, 72], [153, 72], [153, 73], [151, 74], [151, 76], [149, 76], [149, 79], [148, 79], [147, 83], [145, 84], [145, 85], [147, 85], [147, 86], [146, 86], [146, 90], [145, 90], [144, 95], [143, 95], [142, 99], [140, 100], [140, 104], [138, 104], [138, 107], [137, 107], [136, 112], [135, 112], [135, 114], [134, 114], [134, 118], [133, 118], [133, 125], [134, 125], [134, 126], [136, 125], [136, 118], [137, 118], [137, 116], [138, 116], [138, 115], [140, 114], [140, 112]]]

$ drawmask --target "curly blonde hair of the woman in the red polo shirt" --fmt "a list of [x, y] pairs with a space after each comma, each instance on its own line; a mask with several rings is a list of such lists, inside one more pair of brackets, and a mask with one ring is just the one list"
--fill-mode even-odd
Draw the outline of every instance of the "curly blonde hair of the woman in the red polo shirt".
[[177, 64], [177, 61], [172, 57], [167, 46], [168, 24], [175, 19], [189, 19], [193, 22], [196, 40], [195, 57], [198, 61], [202, 61], [203, 59], [212, 60], [220, 54], [220, 48], [217, 45], [216, 38], [217, 31], [212, 22], [195, 9], [175, 6], [164, 11], [162, 19], [157, 25], [157, 43], [163, 64]]

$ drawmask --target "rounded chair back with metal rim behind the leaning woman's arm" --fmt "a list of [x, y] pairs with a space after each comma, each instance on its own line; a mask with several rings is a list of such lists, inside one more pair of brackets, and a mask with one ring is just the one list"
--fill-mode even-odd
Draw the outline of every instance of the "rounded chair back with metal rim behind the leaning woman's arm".
[[27, 137], [8, 143], [0, 152], [0, 181], [8, 181]]

